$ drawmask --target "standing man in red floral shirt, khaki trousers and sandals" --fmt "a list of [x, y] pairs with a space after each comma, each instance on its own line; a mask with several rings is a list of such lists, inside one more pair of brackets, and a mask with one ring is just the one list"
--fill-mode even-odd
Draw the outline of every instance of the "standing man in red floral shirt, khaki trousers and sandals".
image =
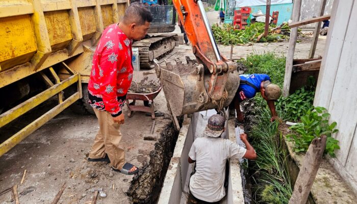
[[139, 169], [125, 163], [125, 151], [119, 146], [122, 107], [133, 79], [132, 43], [147, 34], [152, 15], [141, 3], [131, 4], [119, 23], [102, 33], [93, 55], [88, 82], [89, 104], [99, 122], [88, 161], [110, 162], [114, 170], [134, 174]]

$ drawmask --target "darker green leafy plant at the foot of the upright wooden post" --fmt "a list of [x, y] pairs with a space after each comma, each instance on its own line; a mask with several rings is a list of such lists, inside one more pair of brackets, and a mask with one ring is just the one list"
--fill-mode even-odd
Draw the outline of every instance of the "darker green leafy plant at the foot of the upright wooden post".
[[314, 91], [307, 91], [305, 88], [301, 88], [288, 97], [279, 98], [276, 106], [282, 109], [286, 119], [298, 121], [307, 111], [311, 111], [314, 108], [314, 95]]

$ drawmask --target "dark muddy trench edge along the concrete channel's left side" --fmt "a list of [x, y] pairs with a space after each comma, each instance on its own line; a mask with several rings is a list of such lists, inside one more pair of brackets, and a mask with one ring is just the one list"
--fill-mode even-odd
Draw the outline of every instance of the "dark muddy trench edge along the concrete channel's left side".
[[126, 192], [133, 203], [156, 203], [178, 136], [179, 131], [172, 122], [164, 127], [155, 149], [150, 152], [149, 163], [134, 176]]

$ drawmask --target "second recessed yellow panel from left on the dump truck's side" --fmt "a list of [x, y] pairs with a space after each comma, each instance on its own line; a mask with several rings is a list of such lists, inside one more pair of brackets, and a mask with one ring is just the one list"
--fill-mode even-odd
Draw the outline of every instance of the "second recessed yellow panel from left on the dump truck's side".
[[44, 16], [52, 50], [65, 48], [72, 40], [68, 11], [45, 12]]

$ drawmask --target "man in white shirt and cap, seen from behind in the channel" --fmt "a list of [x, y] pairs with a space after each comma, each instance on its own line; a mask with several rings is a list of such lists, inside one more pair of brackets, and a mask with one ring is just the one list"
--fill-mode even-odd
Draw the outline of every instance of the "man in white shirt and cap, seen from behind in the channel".
[[247, 141], [246, 134], [240, 135], [246, 148], [220, 137], [224, 123], [223, 116], [211, 116], [203, 137], [195, 139], [191, 146], [188, 162], [196, 162], [196, 168], [190, 178], [189, 204], [219, 203], [225, 196], [223, 184], [227, 159], [257, 159], [256, 151]]

